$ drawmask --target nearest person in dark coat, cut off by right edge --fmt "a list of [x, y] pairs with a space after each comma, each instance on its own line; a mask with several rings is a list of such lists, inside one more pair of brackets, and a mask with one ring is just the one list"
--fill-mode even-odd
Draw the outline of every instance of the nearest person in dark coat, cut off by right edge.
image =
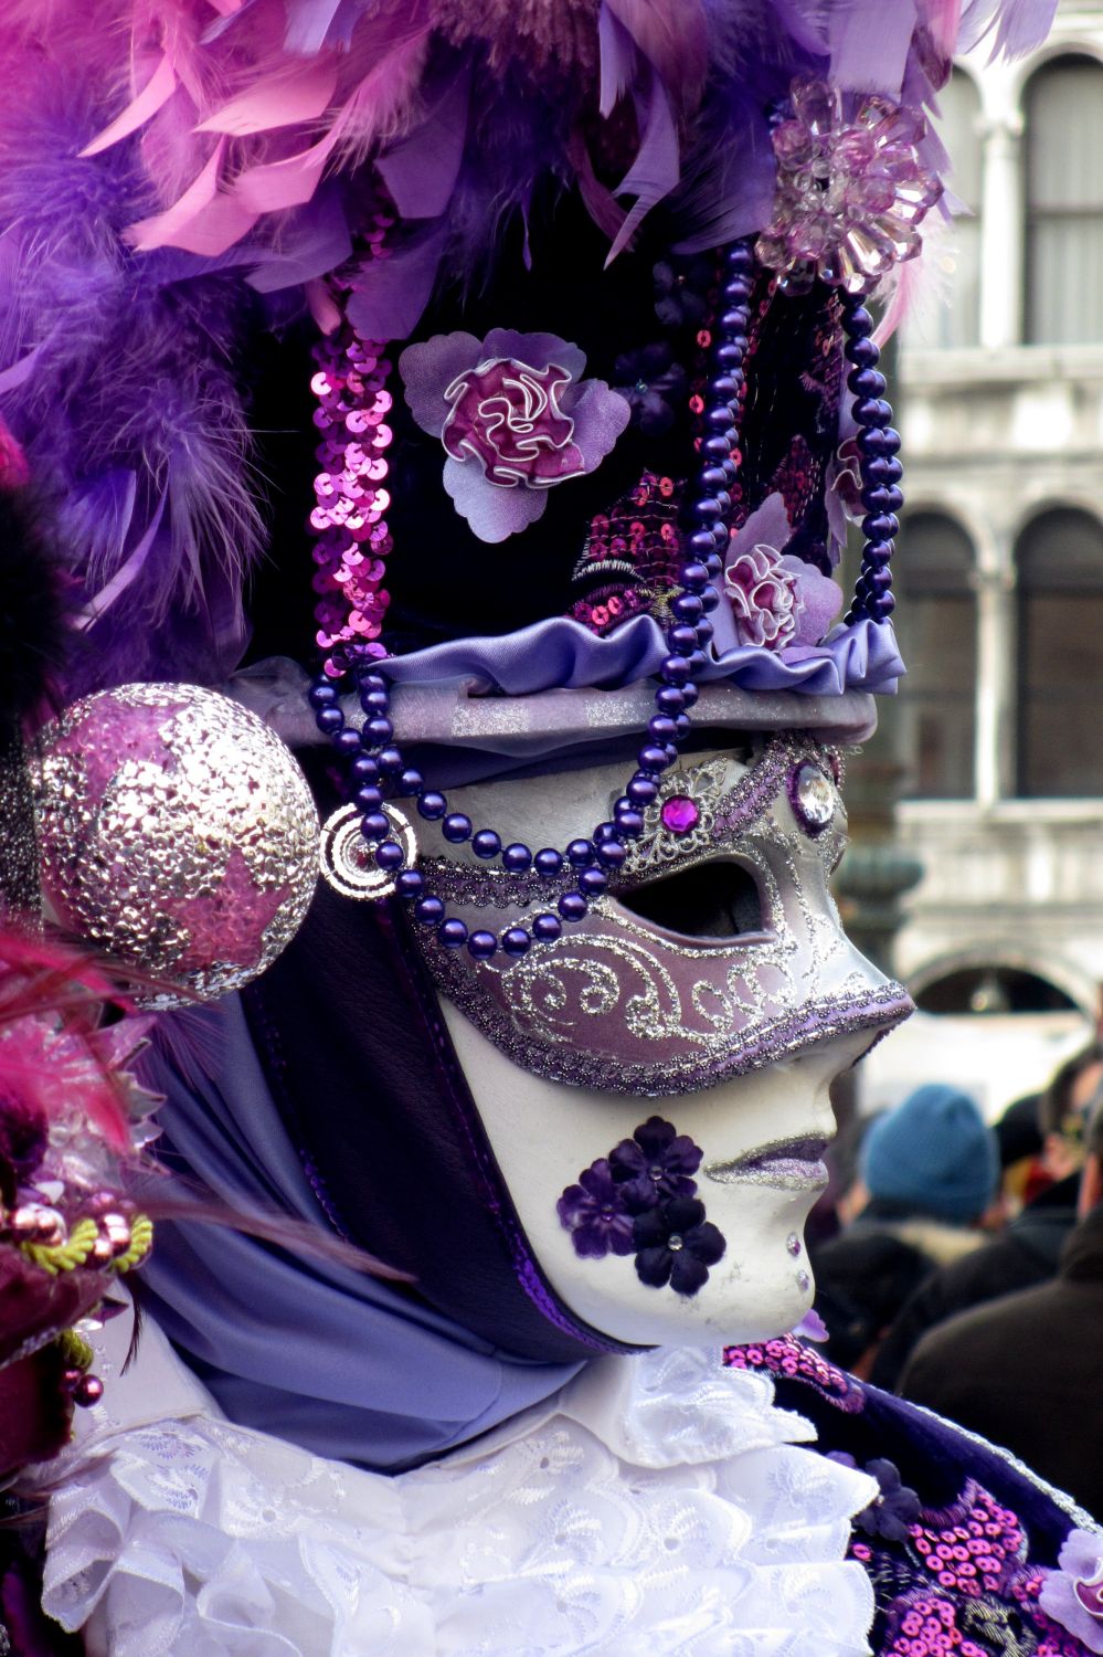
[[931, 1329], [901, 1394], [1027, 1460], [1103, 1514], [1103, 1109], [1088, 1130], [1081, 1220], [1052, 1283]]

